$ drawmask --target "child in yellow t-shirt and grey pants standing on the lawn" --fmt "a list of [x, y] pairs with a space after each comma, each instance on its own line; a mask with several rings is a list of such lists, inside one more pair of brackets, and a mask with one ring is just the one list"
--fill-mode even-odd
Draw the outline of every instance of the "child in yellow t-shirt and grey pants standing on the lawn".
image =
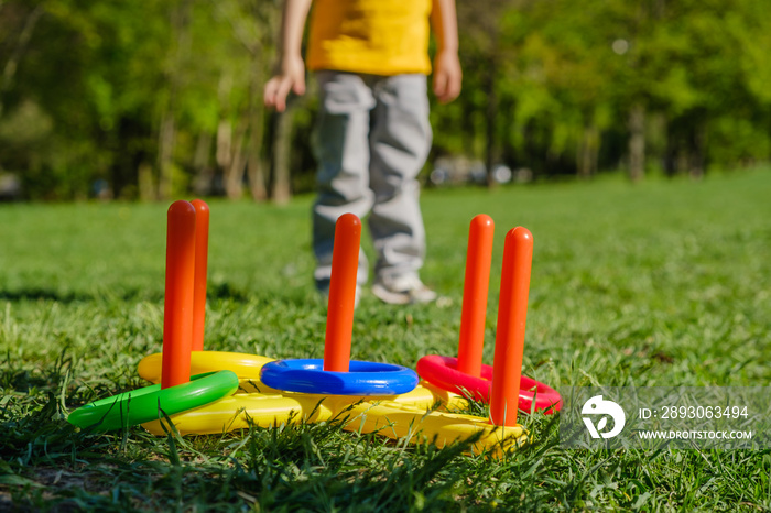
[[[460, 92], [454, 0], [315, 0], [307, 52], [321, 109], [314, 151], [318, 197], [313, 207], [314, 277], [328, 291], [337, 218], [369, 214], [378, 261], [372, 294], [391, 304], [427, 303], [420, 280], [425, 231], [417, 173], [431, 149], [426, 75], [430, 21], [437, 40], [433, 89], [439, 101]], [[264, 101], [283, 111], [290, 90], [305, 92], [301, 45], [311, 0], [285, 0], [278, 74]], [[367, 283], [359, 256], [357, 281]], [[359, 296], [357, 290], [357, 299]]]

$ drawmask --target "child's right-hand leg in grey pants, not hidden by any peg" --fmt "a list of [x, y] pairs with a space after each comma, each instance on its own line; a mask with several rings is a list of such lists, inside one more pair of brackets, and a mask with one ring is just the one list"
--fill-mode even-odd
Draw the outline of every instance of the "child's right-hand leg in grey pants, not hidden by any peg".
[[377, 106], [370, 132], [369, 218], [378, 253], [376, 274], [387, 281], [415, 275], [423, 265], [425, 230], [419, 204], [417, 173], [431, 149], [425, 75], [398, 75], [373, 87]]

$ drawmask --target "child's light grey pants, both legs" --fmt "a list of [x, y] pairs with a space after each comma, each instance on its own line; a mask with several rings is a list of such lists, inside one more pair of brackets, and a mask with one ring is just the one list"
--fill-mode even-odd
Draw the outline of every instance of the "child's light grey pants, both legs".
[[[377, 276], [416, 273], [425, 254], [416, 176], [432, 138], [425, 75], [318, 72], [316, 77], [321, 90], [314, 141], [317, 286], [328, 284], [335, 222], [346, 212], [359, 218], [369, 214]], [[358, 283], [367, 283], [367, 275], [361, 251]]]

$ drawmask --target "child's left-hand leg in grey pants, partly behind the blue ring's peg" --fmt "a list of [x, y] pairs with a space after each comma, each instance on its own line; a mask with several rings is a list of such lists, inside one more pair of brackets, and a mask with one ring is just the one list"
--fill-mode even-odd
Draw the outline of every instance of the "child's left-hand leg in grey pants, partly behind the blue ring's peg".
[[[372, 91], [361, 76], [318, 72], [321, 106], [314, 150], [318, 162], [318, 197], [313, 207], [316, 286], [325, 290], [332, 274], [335, 222], [343, 214], [363, 218], [372, 206], [369, 188], [369, 114]], [[367, 282], [367, 260], [359, 256], [359, 284]]]

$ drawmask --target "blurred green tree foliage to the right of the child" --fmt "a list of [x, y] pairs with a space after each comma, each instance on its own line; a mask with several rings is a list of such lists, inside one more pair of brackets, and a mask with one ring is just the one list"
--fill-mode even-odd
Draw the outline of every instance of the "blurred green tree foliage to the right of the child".
[[[464, 116], [485, 112], [493, 94], [506, 106], [495, 111], [495, 132], [474, 127], [482, 139], [474, 150], [479, 155], [484, 140], [492, 138], [504, 146], [504, 160], [518, 166], [573, 172], [587, 130], [599, 130], [598, 167], [613, 168], [627, 149], [612, 141], [627, 137], [629, 110], [641, 105], [650, 119], [665, 120], [666, 144], [648, 150], [651, 162], [677, 153], [716, 167], [757, 160], [771, 141], [768, 87], [758, 81], [768, 72], [761, 55], [771, 52], [763, 29], [769, 13], [759, 6], [754, 0], [461, 6]], [[496, 74], [492, 87], [484, 69]], [[446, 113], [435, 116], [437, 124], [452, 122]], [[756, 127], [756, 135], [743, 138], [746, 129], [720, 135], [717, 124], [725, 125], [725, 118]], [[460, 118], [453, 127], [465, 129]], [[468, 151], [457, 144], [452, 150]]]

